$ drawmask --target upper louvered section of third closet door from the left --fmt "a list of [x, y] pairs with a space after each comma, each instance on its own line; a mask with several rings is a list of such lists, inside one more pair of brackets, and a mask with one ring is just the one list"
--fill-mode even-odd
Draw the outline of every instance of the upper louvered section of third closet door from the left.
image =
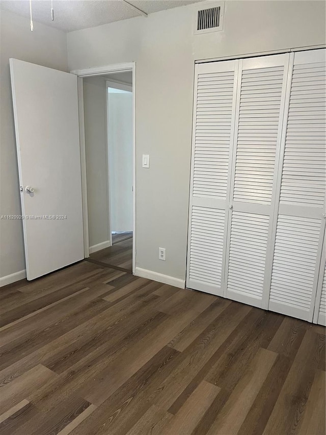
[[280, 202], [322, 207], [325, 172], [325, 63], [294, 64]]

